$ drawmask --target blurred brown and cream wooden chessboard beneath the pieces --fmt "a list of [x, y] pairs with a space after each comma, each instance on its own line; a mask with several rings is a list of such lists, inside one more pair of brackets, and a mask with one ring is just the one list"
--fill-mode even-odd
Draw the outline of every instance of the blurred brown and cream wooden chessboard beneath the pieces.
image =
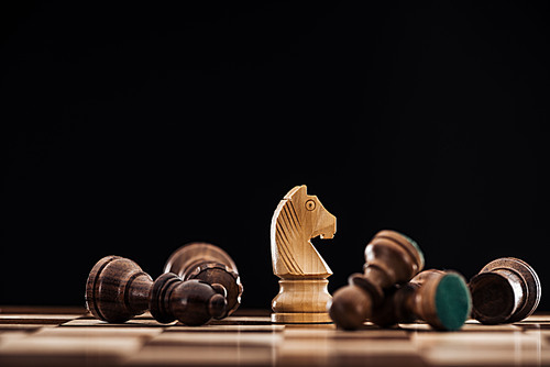
[[0, 366], [550, 366], [550, 314], [460, 332], [422, 323], [344, 332], [275, 325], [239, 310], [206, 326], [163, 325], [144, 314], [108, 324], [75, 308], [2, 308]]

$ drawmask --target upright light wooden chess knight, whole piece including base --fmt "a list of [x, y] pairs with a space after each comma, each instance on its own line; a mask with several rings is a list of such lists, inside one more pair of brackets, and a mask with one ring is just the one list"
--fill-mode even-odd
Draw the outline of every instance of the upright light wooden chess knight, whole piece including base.
[[284, 197], [272, 219], [273, 273], [280, 278], [272, 301], [272, 322], [330, 323], [327, 302], [331, 296], [327, 278], [332, 275], [310, 240], [332, 238], [337, 219], [305, 185]]

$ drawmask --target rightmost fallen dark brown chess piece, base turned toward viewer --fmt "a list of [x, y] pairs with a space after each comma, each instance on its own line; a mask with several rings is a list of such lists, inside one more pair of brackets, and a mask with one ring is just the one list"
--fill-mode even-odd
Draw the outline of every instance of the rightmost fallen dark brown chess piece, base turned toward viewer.
[[513, 323], [539, 305], [541, 287], [535, 269], [524, 260], [503, 257], [485, 265], [470, 280], [472, 316], [484, 324]]

